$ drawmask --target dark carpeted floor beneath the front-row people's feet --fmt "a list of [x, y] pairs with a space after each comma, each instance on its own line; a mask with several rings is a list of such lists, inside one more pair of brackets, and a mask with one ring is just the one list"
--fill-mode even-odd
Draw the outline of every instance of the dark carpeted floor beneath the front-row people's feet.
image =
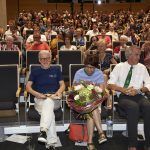
[[[0, 150], [45, 150], [45, 146], [37, 142], [38, 134], [31, 134], [31, 141], [25, 144], [18, 144], [13, 142], [0, 143]], [[64, 132], [59, 132], [62, 147], [58, 147], [57, 150], [86, 150], [86, 147], [75, 146], [75, 143], [70, 141], [68, 135]], [[113, 138], [108, 139], [104, 144], [99, 145], [97, 142], [97, 134], [94, 137], [94, 143], [98, 150], [127, 150], [127, 138], [124, 137], [121, 132], [115, 132]], [[30, 147], [30, 149], [29, 149]], [[138, 150], [144, 150], [144, 143], [139, 142]]]

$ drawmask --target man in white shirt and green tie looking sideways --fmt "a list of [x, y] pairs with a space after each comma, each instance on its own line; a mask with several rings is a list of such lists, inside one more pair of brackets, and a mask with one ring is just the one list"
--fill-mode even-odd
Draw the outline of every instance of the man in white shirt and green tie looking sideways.
[[137, 125], [139, 116], [144, 120], [145, 146], [150, 150], [150, 101], [144, 94], [150, 91], [150, 76], [139, 63], [141, 50], [127, 47], [126, 62], [113, 69], [108, 88], [117, 91], [119, 106], [125, 111], [128, 129], [128, 150], [137, 150]]

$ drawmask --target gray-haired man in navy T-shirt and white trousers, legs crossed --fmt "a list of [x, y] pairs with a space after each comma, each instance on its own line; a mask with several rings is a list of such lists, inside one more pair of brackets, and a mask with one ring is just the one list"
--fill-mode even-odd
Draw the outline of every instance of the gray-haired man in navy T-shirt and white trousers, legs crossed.
[[[57, 134], [54, 110], [61, 107], [61, 101], [58, 98], [62, 98], [65, 83], [60, 70], [50, 65], [51, 53], [49, 51], [39, 52], [39, 62], [41, 68], [31, 72], [26, 90], [35, 96], [34, 106], [41, 115], [38, 141], [45, 143], [47, 150], [55, 150]], [[50, 93], [54, 94], [48, 96]]]

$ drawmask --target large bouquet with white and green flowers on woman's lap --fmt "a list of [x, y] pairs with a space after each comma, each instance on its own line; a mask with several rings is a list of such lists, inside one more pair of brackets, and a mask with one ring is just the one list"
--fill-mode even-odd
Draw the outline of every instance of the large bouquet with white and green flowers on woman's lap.
[[91, 82], [80, 81], [72, 87], [68, 96], [68, 104], [79, 114], [90, 114], [106, 99], [99, 86]]

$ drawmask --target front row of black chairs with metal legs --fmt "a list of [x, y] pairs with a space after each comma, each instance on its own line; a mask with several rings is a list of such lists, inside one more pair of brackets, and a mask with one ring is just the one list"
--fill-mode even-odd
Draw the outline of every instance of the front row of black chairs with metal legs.
[[[73, 77], [75, 72], [82, 68], [84, 64], [70, 64], [69, 66], [69, 85], [71, 86]], [[39, 64], [30, 65], [29, 73], [32, 69], [40, 67]], [[52, 67], [58, 67], [62, 70], [62, 65], [60, 64], [52, 64]], [[19, 84], [19, 67], [16, 64], [13, 65], [0, 65], [0, 116], [4, 115], [4, 112], [7, 112], [7, 117], [15, 117], [15, 122], [20, 124], [20, 112], [21, 110], [21, 103], [20, 103], [20, 96], [21, 96], [21, 88]], [[26, 79], [27, 80], [27, 79]], [[34, 97], [24, 91], [24, 98], [25, 98], [25, 124], [26, 125], [33, 125], [38, 123], [40, 116], [37, 111], [34, 109]], [[55, 111], [56, 115], [56, 122], [57, 124], [64, 124], [65, 122], [80, 122], [73, 117], [72, 111], [66, 105], [66, 98], [67, 94], [64, 94], [62, 99], [62, 107]], [[12, 114], [12, 112], [14, 112]], [[103, 113], [104, 117], [106, 117], [106, 113]], [[6, 117], [5, 115], [2, 116], [3, 118]], [[3, 121], [3, 120], [1, 120]]]

